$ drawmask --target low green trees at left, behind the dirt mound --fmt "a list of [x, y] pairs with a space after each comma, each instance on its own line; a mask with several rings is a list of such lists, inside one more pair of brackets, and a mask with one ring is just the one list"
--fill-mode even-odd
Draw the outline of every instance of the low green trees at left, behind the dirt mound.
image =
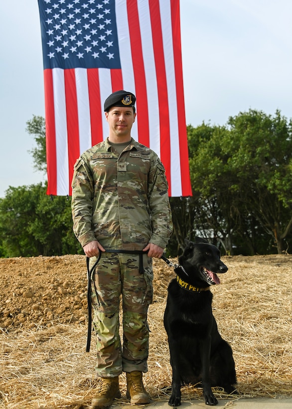
[[10, 187], [0, 199], [2, 257], [83, 252], [72, 231], [71, 200], [45, 193], [40, 183]]

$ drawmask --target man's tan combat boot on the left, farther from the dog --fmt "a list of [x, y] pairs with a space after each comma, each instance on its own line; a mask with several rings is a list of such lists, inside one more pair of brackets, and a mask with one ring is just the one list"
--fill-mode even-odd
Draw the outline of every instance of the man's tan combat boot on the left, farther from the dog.
[[91, 409], [108, 408], [115, 398], [121, 398], [119, 377], [102, 378], [99, 391], [91, 402]]

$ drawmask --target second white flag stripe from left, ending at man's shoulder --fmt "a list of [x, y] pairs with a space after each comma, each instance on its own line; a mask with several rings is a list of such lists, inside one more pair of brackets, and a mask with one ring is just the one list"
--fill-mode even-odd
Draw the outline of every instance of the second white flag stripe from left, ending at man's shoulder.
[[91, 124], [86, 68], [75, 69], [80, 155], [91, 147]]

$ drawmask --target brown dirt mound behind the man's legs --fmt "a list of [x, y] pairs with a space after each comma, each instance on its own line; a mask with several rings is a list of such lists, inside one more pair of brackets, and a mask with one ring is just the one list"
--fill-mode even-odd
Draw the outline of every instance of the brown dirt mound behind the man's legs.
[[[173, 269], [153, 260], [155, 294], [165, 297]], [[0, 259], [0, 328], [34, 329], [87, 318], [86, 257]]]

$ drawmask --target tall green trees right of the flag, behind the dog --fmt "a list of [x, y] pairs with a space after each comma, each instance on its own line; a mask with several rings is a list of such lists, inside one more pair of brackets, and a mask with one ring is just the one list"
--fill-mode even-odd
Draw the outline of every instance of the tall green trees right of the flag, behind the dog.
[[[266, 232], [278, 253], [292, 228], [292, 138], [279, 111], [250, 110], [224, 127], [203, 124], [190, 131], [190, 173], [202, 219], [232, 254], [234, 238], [257, 245]], [[199, 135], [198, 135], [199, 134]], [[198, 142], [199, 141], [199, 142]], [[257, 249], [255, 249], [257, 251]]]

